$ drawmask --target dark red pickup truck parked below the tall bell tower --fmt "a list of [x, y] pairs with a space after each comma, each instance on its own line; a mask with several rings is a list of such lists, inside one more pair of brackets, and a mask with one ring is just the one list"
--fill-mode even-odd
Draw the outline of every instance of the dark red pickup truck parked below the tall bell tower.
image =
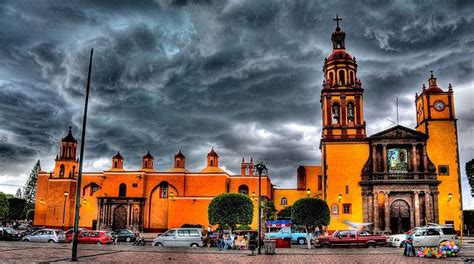
[[314, 243], [316, 246], [320, 247], [376, 247], [385, 246], [387, 244], [387, 237], [382, 235], [372, 235], [367, 231], [337, 230], [331, 236], [319, 237], [315, 239]]

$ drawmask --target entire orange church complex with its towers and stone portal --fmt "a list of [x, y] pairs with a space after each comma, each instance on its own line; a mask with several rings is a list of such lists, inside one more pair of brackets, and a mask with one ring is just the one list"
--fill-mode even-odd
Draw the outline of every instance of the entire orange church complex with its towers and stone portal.
[[[335, 20], [333, 50], [323, 65], [321, 165], [299, 166], [296, 188], [275, 188], [263, 175], [262, 196], [278, 211], [303, 197], [324, 199], [331, 212], [329, 232], [349, 228], [348, 222], [372, 223], [369, 229], [392, 233], [428, 223], [453, 224], [459, 230], [462, 201], [451, 84], [440, 88], [431, 73], [428, 87], [423, 85], [414, 98], [415, 129], [397, 125], [367, 136], [357, 61], [346, 50], [341, 19]], [[73, 225], [76, 149], [70, 128], [54, 170], [38, 175], [35, 225]], [[231, 175], [219, 167], [219, 158], [211, 149], [206, 166], [189, 171], [180, 150], [171, 169], [156, 169], [148, 151], [141, 168], [129, 171], [124, 169], [125, 157], [117, 152], [109, 169], [83, 173], [79, 225], [148, 232], [183, 224], [207, 226], [208, 205], [215, 196], [242, 193], [254, 202], [251, 226], [256, 229], [258, 176], [253, 160], [243, 158], [241, 173]]]

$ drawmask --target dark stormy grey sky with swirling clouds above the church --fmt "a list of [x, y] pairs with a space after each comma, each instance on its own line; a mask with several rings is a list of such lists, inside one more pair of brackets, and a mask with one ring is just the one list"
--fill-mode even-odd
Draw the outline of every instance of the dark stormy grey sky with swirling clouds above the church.
[[[63, 3], [64, 2], [64, 3]], [[415, 92], [433, 70], [452, 83], [464, 205], [474, 158], [474, 4], [470, 1], [2, 1], [0, 191], [14, 193], [36, 160], [53, 168], [68, 126], [79, 137], [94, 48], [85, 170], [109, 168], [120, 149], [136, 169], [264, 160], [275, 184], [319, 165], [324, 57], [338, 13], [365, 88], [368, 135], [396, 119], [415, 126]]]

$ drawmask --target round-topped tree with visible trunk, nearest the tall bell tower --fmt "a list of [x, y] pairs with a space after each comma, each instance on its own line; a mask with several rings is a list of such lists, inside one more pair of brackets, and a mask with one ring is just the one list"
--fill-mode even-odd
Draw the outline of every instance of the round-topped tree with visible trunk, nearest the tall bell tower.
[[291, 220], [293, 223], [305, 227], [306, 242], [308, 249], [311, 249], [309, 232], [316, 226], [329, 225], [329, 206], [325, 201], [317, 198], [299, 199], [291, 209]]

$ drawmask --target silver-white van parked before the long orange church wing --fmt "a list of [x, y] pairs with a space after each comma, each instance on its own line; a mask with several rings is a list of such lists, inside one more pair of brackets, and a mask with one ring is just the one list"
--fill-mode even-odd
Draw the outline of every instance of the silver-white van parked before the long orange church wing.
[[202, 247], [204, 236], [200, 228], [173, 228], [153, 239], [158, 247]]

